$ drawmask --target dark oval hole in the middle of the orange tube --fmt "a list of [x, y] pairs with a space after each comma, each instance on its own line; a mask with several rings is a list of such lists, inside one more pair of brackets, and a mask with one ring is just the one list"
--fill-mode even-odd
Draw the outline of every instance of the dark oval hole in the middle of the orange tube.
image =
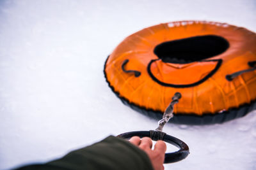
[[220, 55], [229, 47], [221, 36], [207, 35], [166, 41], [154, 48], [154, 53], [163, 62], [184, 64]]

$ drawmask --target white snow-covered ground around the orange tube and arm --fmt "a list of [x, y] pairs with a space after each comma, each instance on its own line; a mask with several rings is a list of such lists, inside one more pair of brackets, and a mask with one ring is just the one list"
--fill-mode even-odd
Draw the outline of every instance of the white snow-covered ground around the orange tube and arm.
[[[255, 0], [0, 1], [0, 169], [46, 162], [157, 120], [125, 106], [103, 67], [125, 37], [177, 20], [256, 31]], [[167, 124], [189, 156], [165, 169], [256, 169], [256, 111], [225, 124]], [[168, 151], [174, 151], [168, 145]]]

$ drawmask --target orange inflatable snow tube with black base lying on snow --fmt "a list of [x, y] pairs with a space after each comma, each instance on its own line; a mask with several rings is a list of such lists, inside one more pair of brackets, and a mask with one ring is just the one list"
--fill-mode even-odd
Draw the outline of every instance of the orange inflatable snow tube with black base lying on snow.
[[105, 62], [109, 87], [123, 103], [170, 122], [216, 124], [256, 109], [256, 34], [205, 21], [154, 25], [124, 39]]

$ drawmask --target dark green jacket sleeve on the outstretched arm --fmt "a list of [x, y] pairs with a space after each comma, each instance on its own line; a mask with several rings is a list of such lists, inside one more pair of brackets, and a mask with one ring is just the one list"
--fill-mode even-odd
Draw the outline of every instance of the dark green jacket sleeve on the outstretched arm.
[[[124, 139], [109, 136], [91, 146], [75, 150], [58, 160], [46, 164], [34, 164], [18, 168], [19, 170], [153, 170], [145, 152]], [[18, 170], [17, 169], [17, 170]]]

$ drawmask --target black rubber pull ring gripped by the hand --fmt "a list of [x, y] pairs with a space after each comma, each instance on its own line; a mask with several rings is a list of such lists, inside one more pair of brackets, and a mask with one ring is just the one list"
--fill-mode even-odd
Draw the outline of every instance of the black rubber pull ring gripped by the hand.
[[[125, 132], [123, 134], [119, 134], [117, 137], [129, 139], [132, 138], [132, 136], [139, 136], [140, 138], [143, 137], [150, 137], [150, 131], [133, 131], [133, 132]], [[180, 148], [177, 152], [173, 153], [165, 153], [164, 157], [164, 164], [169, 164], [173, 162], [178, 162], [182, 159], [185, 159], [189, 154], [189, 147], [184, 143], [184, 141], [181, 141], [180, 139], [177, 139], [173, 136], [170, 136], [168, 134], [165, 134], [163, 137], [163, 141], [166, 143], [170, 143], [174, 146], [177, 146]]]

